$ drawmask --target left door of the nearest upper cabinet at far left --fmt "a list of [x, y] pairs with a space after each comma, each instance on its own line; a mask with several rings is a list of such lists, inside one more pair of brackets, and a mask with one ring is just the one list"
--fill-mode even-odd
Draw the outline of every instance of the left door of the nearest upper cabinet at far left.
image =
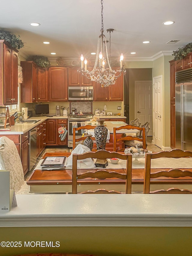
[[12, 104], [11, 49], [4, 44], [4, 104]]

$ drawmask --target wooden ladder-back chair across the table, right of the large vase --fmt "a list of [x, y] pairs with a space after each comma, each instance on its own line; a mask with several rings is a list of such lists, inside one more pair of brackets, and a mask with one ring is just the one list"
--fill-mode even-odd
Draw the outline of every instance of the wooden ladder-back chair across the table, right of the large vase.
[[[137, 129], [137, 130], [140, 130], [142, 131], [142, 138], [137, 138], [137, 137], [133, 137], [133, 136], [125, 136], [125, 137], [121, 137], [119, 139], [117, 139], [116, 137], [116, 131], [119, 131], [119, 130], [130, 130], [130, 129]], [[137, 126], [132, 126], [132, 125], [125, 125], [125, 126], [120, 126], [120, 127], [114, 127], [113, 128], [113, 150], [116, 151], [116, 152], [123, 152], [125, 150], [125, 148], [123, 149], [117, 149], [116, 147], [116, 143], [118, 141], [125, 141], [125, 140], [138, 140], [138, 141], [141, 141], [143, 143], [143, 149], [146, 149], [146, 137], [145, 137], [145, 128], [140, 128], [140, 127], [137, 127]]]

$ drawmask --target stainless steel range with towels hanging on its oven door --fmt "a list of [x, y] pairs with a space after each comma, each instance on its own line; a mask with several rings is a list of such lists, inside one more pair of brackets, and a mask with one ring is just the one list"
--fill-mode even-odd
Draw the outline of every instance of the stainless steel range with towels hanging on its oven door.
[[[83, 125], [85, 121], [89, 121], [91, 118], [93, 118], [93, 114], [83, 114], [83, 115], [68, 115], [68, 147], [73, 147], [73, 126], [75, 125], [74, 122], [77, 122], [77, 127], [80, 127]], [[82, 136], [82, 131], [79, 130], [78, 133], [75, 134], [76, 139], [80, 138]]]

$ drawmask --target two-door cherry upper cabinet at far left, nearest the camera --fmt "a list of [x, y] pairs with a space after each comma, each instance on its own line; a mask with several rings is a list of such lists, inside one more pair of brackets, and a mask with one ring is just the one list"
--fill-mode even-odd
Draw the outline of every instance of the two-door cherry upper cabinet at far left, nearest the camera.
[[0, 40], [0, 104], [18, 103], [18, 51]]

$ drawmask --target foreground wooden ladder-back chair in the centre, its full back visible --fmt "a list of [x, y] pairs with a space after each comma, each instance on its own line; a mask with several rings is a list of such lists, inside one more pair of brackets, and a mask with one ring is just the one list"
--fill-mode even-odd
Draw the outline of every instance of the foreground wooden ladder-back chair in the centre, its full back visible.
[[[98, 159], [107, 159], [107, 158], [119, 158], [127, 161], [126, 164], [126, 173], [117, 172], [118, 169], [114, 171], [109, 171], [109, 169], [91, 169], [85, 173], [77, 174], [77, 160], [82, 160], [86, 158], [98, 158]], [[122, 170], [122, 169], [121, 169]], [[86, 152], [84, 154], [73, 154], [73, 166], [72, 166], [72, 194], [77, 194], [77, 180], [94, 178], [94, 179], [109, 179], [109, 178], [118, 178], [124, 179], [126, 181], [125, 192], [115, 191], [115, 190], [106, 190], [106, 189], [97, 189], [95, 191], [85, 191], [78, 194], [131, 194], [131, 176], [132, 176], [132, 155], [131, 154], [119, 154], [116, 152], [109, 152], [106, 150], [98, 150], [97, 152]]]

